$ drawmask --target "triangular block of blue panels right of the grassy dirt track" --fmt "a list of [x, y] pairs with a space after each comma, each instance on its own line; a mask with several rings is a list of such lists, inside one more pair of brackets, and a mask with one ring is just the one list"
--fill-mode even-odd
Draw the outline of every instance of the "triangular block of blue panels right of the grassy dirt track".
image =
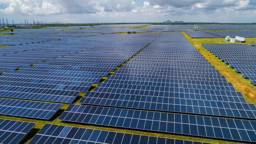
[[256, 85], [256, 48], [247, 44], [202, 44]]

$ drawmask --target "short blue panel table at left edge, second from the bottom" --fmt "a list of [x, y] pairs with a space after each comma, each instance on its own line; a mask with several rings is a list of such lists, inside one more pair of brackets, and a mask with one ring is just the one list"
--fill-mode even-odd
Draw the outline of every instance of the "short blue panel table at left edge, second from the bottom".
[[62, 104], [0, 98], [0, 114], [49, 120]]

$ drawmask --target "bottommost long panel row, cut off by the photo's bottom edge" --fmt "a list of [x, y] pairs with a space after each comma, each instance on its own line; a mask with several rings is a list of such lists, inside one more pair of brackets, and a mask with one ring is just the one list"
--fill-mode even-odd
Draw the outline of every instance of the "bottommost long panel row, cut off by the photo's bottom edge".
[[98, 129], [45, 124], [29, 144], [208, 144]]

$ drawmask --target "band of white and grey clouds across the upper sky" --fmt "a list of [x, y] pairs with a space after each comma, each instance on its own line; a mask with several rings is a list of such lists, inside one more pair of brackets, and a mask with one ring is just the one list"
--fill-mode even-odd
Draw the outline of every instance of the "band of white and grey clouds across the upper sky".
[[[26, 17], [86, 15], [93, 17], [154, 18], [197, 15], [255, 15], [256, 0], [0, 0], [0, 13]], [[147, 17], [145, 17], [147, 16]], [[171, 19], [171, 18], [170, 18]], [[185, 20], [186, 21], [186, 20]]]

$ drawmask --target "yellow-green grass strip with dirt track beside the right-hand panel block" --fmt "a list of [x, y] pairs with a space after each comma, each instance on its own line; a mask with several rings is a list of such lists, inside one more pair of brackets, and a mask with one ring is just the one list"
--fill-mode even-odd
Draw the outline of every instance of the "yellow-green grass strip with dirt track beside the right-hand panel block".
[[[215, 67], [219, 70], [221, 75], [225, 76], [228, 82], [231, 82], [237, 91], [242, 92], [245, 100], [248, 103], [256, 104], [256, 86], [250, 83], [250, 79], [243, 78], [240, 73], [234, 71], [234, 68], [230, 68], [229, 65], [223, 63], [221, 59], [211, 54], [201, 44], [202, 43], [230, 43], [224, 41], [224, 38], [191, 38], [185, 32], [182, 32], [184, 36], [191, 42], [197, 50]], [[246, 38], [245, 43], [250, 44], [255, 42], [256, 38]], [[236, 43], [238, 44], [238, 43]]]

